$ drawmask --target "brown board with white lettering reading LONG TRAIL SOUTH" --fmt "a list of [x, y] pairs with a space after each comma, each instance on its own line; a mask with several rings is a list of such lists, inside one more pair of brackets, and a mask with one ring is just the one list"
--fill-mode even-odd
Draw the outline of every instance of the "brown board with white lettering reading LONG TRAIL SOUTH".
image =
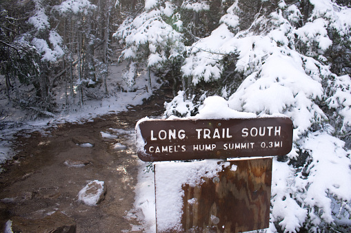
[[143, 120], [137, 124], [138, 156], [145, 162], [287, 155], [289, 118]]

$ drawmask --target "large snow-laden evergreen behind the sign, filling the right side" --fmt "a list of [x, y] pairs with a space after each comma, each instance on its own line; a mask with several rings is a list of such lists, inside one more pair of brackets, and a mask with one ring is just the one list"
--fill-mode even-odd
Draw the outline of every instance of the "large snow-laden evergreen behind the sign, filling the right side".
[[[240, 5], [234, 1], [221, 25], [190, 47], [183, 76], [195, 86], [221, 83], [217, 94], [228, 96], [232, 109], [293, 120], [294, 148], [274, 160], [270, 232], [348, 231], [350, 69], [331, 68], [338, 66], [333, 47], [350, 52], [351, 9], [330, 0], [279, 1], [274, 8], [261, 1], [245, 26]], [[174, 109], [166, 106], [166, 113]]]

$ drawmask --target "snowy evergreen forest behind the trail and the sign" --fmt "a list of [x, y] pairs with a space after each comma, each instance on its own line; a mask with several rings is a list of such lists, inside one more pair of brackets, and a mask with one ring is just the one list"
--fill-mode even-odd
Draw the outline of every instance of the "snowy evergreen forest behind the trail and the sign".
[[[294, 148], [274, 162], [270, 229], [348, 232], [350, 15], [346, 0], [5, 0], [1, 91], [28, 118], [52, 118], [134, 92], [146, 71], [146, 92], [151, 76], [173, 87], [165, 117], [196, 115], [208, 96], [287, 115]], [[111, 65], [125, 66], [113, 86]]]

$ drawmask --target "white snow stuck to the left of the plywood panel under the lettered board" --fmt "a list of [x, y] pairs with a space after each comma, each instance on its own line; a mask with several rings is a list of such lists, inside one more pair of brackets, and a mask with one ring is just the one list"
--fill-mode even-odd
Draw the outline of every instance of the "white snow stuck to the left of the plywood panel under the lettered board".
[[[230, 166], [230, 162], [208, 159], [201, 162], [159, 162], [155, 167], [157, 229], [181, 230], [183, 214], [183, 184], [194, 187], [202, 184], [202, 177], [212, 178]], [[195, 201], [195, 200], [193, 200]]]

